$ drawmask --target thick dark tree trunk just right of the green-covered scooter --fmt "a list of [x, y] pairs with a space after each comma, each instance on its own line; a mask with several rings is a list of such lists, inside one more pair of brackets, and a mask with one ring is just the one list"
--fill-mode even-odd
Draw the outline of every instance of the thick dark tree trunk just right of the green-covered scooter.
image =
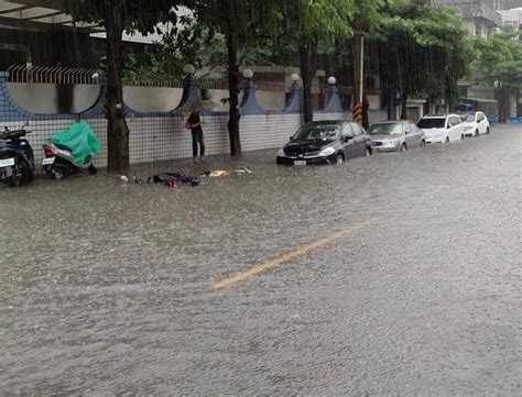
[[109, 172], [129, 169], [129, 126], [123, 109], [122, 24], [116, 9], [108, 7], [106, 20], [107, 52], [107, 151]]

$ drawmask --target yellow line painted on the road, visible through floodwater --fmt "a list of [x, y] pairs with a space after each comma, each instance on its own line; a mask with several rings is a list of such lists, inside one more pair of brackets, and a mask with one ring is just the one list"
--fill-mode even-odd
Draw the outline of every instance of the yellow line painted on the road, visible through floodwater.
[[249, 277], [255, 276], [257, 274], [260, 274], [260, 273], [267, 272], [271, 268], [274, 268], [275, 266], [281, 265], [282, 263], [292, 261], [294, 257], [303, 256], [303, 255], [307, 254], [308, 252], [311, 252], [313, 250], [316, 250], [320, 246], [324, 246], [324, 245], [329, 244], [329, 243], [331, 243], [336, 240], [339, 240], [344, 236], [347, 236], [347, 235], [349, 235], [349, 234], [351, 234], [351, 233], [354, 233], [354, 232], [356, 232], [356, 231], [358, 231], [358, 230], [360, 230], [365, 227], [369, 227], [370, 224], [377, 223], [378, 221], [379, 221], [379, 218], [371, 218], [371, 219], [368, 219], [363, 222], [356, 223], [351, 228], [340, 230], [340, 231], [335, 232], [335, 233], [333, 233], [333, 234], [330, 234], [326, 238], [317, 240], [313, 243], [303, 245], [298, 250], [289, 252], [284, 255], [281, 255], [280, 257], [276, 257], [276, 258], [271, 260], [267, 263], [263, 263], [262, 265], [251, 267], [251, 268], [249, 268], [244, 272], [239, 272], [238, 274], [236, 274], [231, 277], [224, 278], [222, 280], [217, 282], [216, 284], [214, 284], [214, 288], [221, 289], [221, 288], [230, 287], [233, 284], [238, 284], [238, 283], [243, 282], [244, 279], [247, 279]]

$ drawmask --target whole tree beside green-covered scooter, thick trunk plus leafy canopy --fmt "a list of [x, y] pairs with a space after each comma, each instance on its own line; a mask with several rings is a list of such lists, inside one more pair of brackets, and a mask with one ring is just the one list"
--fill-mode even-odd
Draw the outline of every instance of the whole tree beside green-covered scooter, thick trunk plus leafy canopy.
[[129, 167], [129, 126], [123, 113], [123, 51], [124, 31], [152, 33], [160, 21], [175, 19], [173, 0], [61, 0], [63, 9], [75, 21], [104, 26], [107, 33], [107, 104], [108, 170]]

